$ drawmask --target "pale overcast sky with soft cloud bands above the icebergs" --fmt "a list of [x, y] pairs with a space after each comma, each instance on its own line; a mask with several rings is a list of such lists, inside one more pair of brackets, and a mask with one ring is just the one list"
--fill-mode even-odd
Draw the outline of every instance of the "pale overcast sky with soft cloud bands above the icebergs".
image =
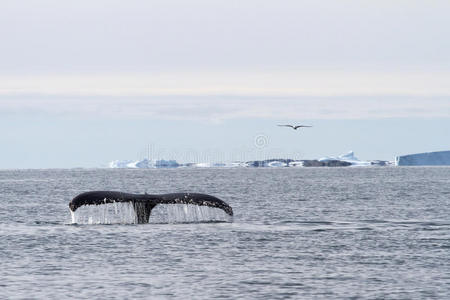
[[[449, 150], [449, 11], [433, 0], [1, 0], [0, 168], [96, 167], [147, 144], [178, 159]], [[280, 122], [314, 127], [291, 135]]]

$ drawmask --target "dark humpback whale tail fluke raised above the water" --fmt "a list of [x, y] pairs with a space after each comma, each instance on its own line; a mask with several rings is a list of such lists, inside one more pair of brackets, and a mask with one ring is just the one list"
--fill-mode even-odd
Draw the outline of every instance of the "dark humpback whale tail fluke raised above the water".
[[171, 193], [161, 195], [129, 194], [114, 191], [92, 191], [82, 193], [72, 199], [69, 208], [75, 212], [83, 205], [100, 205], [116, 202], [129, 202], [136, 212], [138, 223], [148, 223], [152, 209], [158, 204], [193, 204], [222, 209], [228, 215], [233, 215], [233, 209], [224, 201], [206, 194]]

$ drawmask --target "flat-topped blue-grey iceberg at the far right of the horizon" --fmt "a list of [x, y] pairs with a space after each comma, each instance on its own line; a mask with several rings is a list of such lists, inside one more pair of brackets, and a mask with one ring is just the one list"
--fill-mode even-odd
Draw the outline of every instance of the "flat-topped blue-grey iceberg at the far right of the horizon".
[[396, 166], [450, 166], [450, 151], [425, 152], [395, 157]]

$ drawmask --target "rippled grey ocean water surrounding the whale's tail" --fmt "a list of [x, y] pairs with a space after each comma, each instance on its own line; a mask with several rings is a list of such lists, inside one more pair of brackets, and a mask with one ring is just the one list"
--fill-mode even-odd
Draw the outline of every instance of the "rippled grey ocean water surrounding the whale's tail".
[[[234, 217], [72, 218], [89, 190], [208, 193]], [[449, 299], [449, 204], [447, 167], [4, 170], [0, 298]]]

